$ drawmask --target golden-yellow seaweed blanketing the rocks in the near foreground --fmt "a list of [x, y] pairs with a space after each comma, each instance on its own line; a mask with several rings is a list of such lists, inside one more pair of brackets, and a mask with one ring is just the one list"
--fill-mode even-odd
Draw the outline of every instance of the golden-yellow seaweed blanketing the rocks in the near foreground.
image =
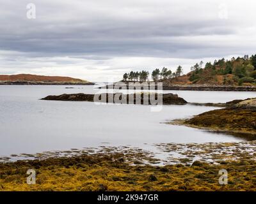
[[[127, 155], [51, 157], [40, 160], [0, 163], [0, 191], [255, 191], [256, 161], [244, 154], [241, 161], [221, 164], [196, 161], [182, 164], [131, 165], [115, 160]], [[141, 157], [140, 152], [128, 157]], [[127, 158], [128, 158], [127, 157]], [[37, 168], [38, 167], [38, 168]], [[161, 171], [167, 168], [169, 171]], [[228, 185], [218, 182], [220, 169], [228, 169]], [[36, 184], [26, 184], [28, 169], [36, 170]], [[100, 172], [108, 171], [107, 174]], [[243, 175], [243, 176], [241, 176]], [[118, 179], [112, 179], [118, 178]], [[238, 180], [237, 180], [238, 179]], [[236, 181], [236, 182], [234, 182]], [[101, 193], [102, 194], [102, 193]]]

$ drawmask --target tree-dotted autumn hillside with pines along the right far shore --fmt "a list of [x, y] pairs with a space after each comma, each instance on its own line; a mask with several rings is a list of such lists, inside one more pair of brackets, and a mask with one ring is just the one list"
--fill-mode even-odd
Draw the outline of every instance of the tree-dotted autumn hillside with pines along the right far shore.
[[[171, 69], [154, 69], [151, 77], [154, 82], [172, 84], [209, 84], [209, 85], [256, 85], [256, 54], [249, 57], [237, 57], [230, 60], [224, 58], [211, 62], [196, 63], [187, 75], [182, 75], [182, 67], [175, 71]], [[141, 77], [142, 76], [142, 77]], [[125, 73], [123, 80], [146, 81], [149, 80], [147, 71], [131, 71]]]

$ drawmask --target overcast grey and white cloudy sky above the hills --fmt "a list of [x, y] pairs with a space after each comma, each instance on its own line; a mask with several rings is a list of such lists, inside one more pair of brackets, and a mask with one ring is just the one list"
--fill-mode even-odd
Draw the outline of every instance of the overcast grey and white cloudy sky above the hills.
[[[33, 10], [27, 8], [35, 4]], [[0, 0], [0, 74], [91, 81], [256, 53], [250, 0]], [[29, 18], [28, 18], [29, 17]]]

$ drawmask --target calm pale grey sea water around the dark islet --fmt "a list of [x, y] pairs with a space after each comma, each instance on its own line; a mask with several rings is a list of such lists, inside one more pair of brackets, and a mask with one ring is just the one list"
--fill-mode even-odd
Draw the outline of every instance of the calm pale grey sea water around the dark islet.
[[[93, 86], [0, 85], [0, 156], [45, 150], [145, 143], [239, 142], [232, 135], [163, 124], [208, 110], [206, 106], [164, 105], [151, 112], [145, 105], [95, 105], [90, 102], [42, 101], [50, 94], [95, 93]], [[106, 90], [101, 90], [106, 91]], [[256, 97], [255, 92], [164, 91], [189, 102], [219, 103]]]

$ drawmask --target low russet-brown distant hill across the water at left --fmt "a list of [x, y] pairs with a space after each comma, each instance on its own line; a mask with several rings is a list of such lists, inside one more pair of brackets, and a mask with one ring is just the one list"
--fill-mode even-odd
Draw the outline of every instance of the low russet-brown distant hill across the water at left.
[[42, 75], [0, 75], [0, 82], [42, 82], [42, 83], [90, 83], [86, 80], [71, 77], [42, 76]]

